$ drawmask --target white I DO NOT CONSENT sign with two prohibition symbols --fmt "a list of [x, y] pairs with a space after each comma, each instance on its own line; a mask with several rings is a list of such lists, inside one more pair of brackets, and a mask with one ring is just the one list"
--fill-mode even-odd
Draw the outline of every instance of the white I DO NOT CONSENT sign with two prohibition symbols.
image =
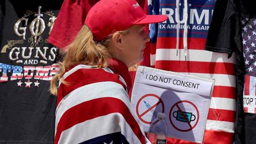
[[139, 66], [132, 105], [149, 131], [157, 113], [165, 113], [169, 137], [203, 142], [214, 80]]

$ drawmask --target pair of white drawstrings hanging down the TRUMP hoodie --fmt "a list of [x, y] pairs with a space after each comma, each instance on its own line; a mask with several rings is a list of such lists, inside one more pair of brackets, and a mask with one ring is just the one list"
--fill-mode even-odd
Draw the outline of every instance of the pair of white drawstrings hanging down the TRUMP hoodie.
[[[178, 56], [178, 50], [179, 50], [179, 39], [180, 39], [180, 0], [176, 1], [176, 10], [175, 10], [175, 19], [177, 21], [177, 35], [176, 35], [176, 56]], [[188, 36], [188, 1], [184, 0], [184, 11], [183, 11], [183, 21], [184, 21], [184, 31], [183, 31], [183, 49], [184, 49], [184, 55], [185, 60], [187, 61], [187, 50], [188, 50], [188, 42], [187, 42], [187, 36]]]

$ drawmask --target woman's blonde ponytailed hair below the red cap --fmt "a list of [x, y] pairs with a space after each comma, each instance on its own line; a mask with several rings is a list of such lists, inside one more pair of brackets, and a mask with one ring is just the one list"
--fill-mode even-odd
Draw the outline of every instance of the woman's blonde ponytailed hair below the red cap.
[[[116, 33], [123, 34], [127, 34], [128, 32], [129, 29], [116, 31]], [[100, 42], [95, 42], [91, 30], [84, 25], [74, 41], [67, 46], [67, 50], [60, 52], [63, 55], [63, 61], [59, 62], [60, 73], [55, 75], [51, 80], [50, 92], [53, 95], [57, 95], [57, 81], [61, 80], [71, 65], [89, 65], [99, 68], [108, 67], [109, 63], [107, 59], [111, 57], [108, 44], [112, 36], [113, 34]], [[67, 84], [63, 80], [61, 82]]]

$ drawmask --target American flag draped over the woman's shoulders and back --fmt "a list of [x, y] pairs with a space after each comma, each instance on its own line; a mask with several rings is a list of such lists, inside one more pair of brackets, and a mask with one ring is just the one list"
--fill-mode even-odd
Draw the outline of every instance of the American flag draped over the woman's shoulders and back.
[[54, 143], [145, 143], [126, 82], [109, 68], [77, 65], [60, 83]]

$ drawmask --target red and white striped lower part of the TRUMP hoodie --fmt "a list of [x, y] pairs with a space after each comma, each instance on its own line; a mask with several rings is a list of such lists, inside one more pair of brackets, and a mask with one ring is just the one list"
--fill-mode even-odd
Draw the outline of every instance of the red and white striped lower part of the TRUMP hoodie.
[[182, 41], [180, 38], [177, 56], [176, 38], [158, 37], [155, 46], [150, 46], [151, 67], [215, 79], [204, 143], [213, 139], [215, 143], [231, 143], [236, 110], [235, 55], [228, 59], [225, 53], [205, 51], [205, 38], [188, 38], [186, 61]]

